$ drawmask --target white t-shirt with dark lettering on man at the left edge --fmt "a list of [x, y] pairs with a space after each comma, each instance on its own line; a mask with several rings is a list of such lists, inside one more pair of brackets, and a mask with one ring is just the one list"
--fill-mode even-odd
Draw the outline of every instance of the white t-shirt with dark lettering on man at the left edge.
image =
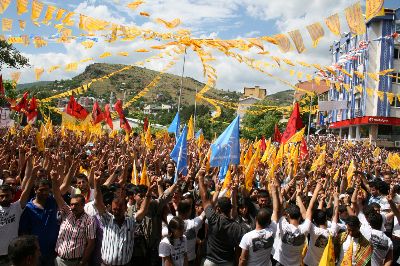
[[0, 206], [0, 256], [8, 254], [8, 245], [11, 240], [18, 237], [22, 211], [19, 200], [11, 203], [9, 207]]

